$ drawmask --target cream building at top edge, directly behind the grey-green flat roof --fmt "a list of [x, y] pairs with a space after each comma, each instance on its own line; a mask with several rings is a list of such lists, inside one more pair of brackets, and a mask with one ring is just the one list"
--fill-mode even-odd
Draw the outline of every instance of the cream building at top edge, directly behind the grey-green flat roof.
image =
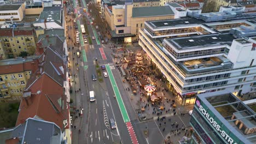
[[132, 5], [133, 5], [133, 8], [159, 7], [160, 6], [160, 0], [133, 0]]

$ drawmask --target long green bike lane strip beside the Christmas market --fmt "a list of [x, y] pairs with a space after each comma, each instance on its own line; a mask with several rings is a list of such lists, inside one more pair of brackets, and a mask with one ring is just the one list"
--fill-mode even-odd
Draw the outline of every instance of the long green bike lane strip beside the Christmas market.
[[128, 116], [128, 113], [125, 109], [125, 106], [124, 106], [124, 101], [121, 97], [121, 94], [119, 92], [119, 89], [118, 89], [118, 86], [117, 86], [117, 83], [115, 82], [115, 79], [114, 79], [114, 76], [112, 74], [112, 71], [109, 67], [109, 64], [106, 64], [105, 65], [107, 71], [108, 71], [108, 76], [109, 76], [109, 79], [110, 79], [110, 82], [111, 82], [111, 85], [113, 87], [113, 90], [114, 90], [114, 93], [115, 93], [115, 98], [117, 99], [118, 101], [118, 106], [119, 106], [119, 109], [121, 111], [121, 114], [123, 116], [123, 119], [124, 119], [124, 122], [127, 123], [127, 122], [130, 122], [130, 118]]

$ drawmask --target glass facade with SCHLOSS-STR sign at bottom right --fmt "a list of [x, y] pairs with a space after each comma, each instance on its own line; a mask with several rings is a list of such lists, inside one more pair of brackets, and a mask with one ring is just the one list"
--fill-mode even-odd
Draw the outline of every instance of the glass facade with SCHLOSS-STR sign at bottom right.
[[[244, 143], [219, 121], [218, 117], [202, 103], [199, 97], [196, 99], [190, 124], [194, 128], [194, 133], [200, 137], [200, 139], [194, 137], [194, 141], [191, 143]], [[233, 142], [230, 142], [229, 139], [232, 139]]]

